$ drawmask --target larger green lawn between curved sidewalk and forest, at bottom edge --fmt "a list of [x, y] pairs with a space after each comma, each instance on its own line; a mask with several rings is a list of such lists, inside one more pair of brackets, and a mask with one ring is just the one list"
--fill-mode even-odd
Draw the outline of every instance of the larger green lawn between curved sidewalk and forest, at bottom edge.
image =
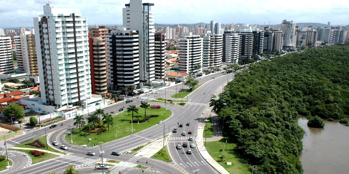
[[[228, 140], [227, 151], [225, 150], [225, 141]], [[207, 142], [206, 150], [211, 157], [216, 160], [221, 166], [223, 166], [229, 173], [234, 174], [251, 174], [248, 167], [241, 163], [242, 159], [236, 153], [236, 144], [229, 143], [229, 139], [223, 138], [215, 142]], [[226, 162], [232, 162], [231, 166], [225, 165], [225, 162], [221, 162], [218, 156], [224, 155]]]

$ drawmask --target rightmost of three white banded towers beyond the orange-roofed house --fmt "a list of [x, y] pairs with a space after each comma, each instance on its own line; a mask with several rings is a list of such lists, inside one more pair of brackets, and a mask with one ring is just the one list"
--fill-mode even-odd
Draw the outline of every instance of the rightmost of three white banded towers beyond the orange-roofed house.
[[237, 63], [239, 59], [240, 36], [237, 33], [225, 31], [223, 34], [223, 62]]

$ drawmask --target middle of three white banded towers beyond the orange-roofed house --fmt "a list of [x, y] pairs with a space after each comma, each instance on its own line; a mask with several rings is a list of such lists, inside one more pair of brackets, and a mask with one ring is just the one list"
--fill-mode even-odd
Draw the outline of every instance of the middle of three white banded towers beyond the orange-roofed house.
[[203, 36], [202, 68], [219, 67], [222, 65], [223, 35], [208, 34]]

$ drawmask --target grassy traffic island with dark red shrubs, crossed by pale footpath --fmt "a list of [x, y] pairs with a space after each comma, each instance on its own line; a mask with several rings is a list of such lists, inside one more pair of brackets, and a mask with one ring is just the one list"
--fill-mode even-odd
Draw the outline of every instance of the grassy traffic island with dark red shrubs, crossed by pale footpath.
[[[40, 143], [38, 143], [38, 142], [40, 142]], [[29, 145], [29, 144], [32, 144], [32, 145]], [[37, 146], [35, 146], [35, 145], [37, 145]], [[43, 147], [43, 145], [45, 145], [45, 146]], [[47, 148], [49, 150], [49, 153], [47, 153]], [[60, 155], [64, 155], [65, 154], [63, 152], [60, 152], [60, 151], [57, 151], [57, 150], [53, 149], [50, 146], [46, 147], [46, 138], [45, 138], [45, 136], [42, 136], [42, 137], [30, 140], [28, 142], [24, 142], [22, 144], [18, 144], [18, 145], [13, 146], [13, 147], [11, 147], [9, 149], [13, 149], [13, 150], [16, 150], [16, 151], [21, 151], [21, 152], [27, 153], [31, 157], [31, 159], [32, 159], [32, 163], [31, 163], [32, 165], [36, 164], [38, 162], [46, 161], [46, 160], [49, 160], [49, 159], [52, 159], [52, 158], [56, 158], [56, 157], [59, 157]], [[38, 156], [38, 154], [35, 153], [36, 151], [34, 151], [34, 150], [37, 150], [39, 152], [45, 152], [45, 153]], [[30, 151], [32, 151], [32, 153]]]

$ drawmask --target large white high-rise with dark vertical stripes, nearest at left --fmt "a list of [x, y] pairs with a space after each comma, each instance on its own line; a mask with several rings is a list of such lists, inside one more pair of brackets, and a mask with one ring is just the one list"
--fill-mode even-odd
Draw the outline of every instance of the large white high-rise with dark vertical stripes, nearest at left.
[[82, 106], [92, 95], [87, 18], [46, 4], [34, 27], [41, 100], [62, 108]]

